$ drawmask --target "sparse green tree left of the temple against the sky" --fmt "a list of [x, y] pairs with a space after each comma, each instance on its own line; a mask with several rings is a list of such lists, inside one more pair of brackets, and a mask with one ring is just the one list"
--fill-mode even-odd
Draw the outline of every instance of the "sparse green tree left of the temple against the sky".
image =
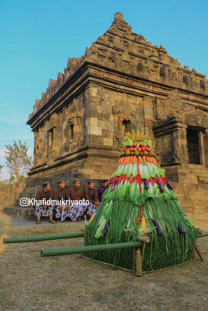
[[28, 147], [26, 142], [24, 144], [19, 141], [19, 146], [17, 142], [14, 142], [13, 146], [5, 145], [8, 151], [6, 153], [6, 167], [8, 173], [11, 175], [10, 180], [16, 183], [24, 180], [27, 176], [27, 172], [32, 165], [32, 156], [27, 155]]

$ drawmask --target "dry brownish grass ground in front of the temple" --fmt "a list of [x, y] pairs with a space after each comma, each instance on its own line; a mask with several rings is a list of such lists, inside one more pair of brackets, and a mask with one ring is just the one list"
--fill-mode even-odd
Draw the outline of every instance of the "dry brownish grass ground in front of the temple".
[[[203, 225], [202, 225], [203, 224]], [[208, 230], [207, 218], [195, 226]], [[83, 238], [22, 244], [2, 244], [2, 236], [79, 232], [82, 224], [17, 227], [0, 222], [0, 310], [82, 311], [205, 311], [208, 310], [207, 262], [136, 277], [134, 274], [79, 258], [40, 257], [43, 248], [83, 245]], [[198, 239], [208, 260], [208, 237]]]

